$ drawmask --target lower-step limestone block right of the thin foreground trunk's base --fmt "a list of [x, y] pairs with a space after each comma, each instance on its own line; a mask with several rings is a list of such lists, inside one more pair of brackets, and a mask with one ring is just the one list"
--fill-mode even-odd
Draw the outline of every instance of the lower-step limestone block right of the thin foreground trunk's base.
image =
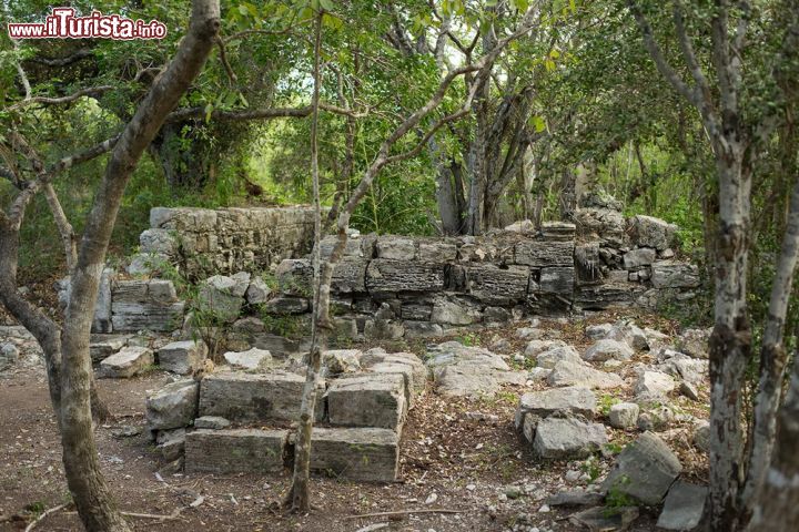
[[400, 464], [400, 438], [388, 429], [315, 428], [311, 469], [365, 482], [393, 482]]

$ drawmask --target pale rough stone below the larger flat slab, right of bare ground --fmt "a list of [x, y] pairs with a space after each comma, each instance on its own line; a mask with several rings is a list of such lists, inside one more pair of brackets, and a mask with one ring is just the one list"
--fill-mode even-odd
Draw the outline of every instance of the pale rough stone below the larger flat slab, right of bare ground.
[[607, 443], [605, 426], [573, 418], [538, 421], [533, 450], [542, 458], [586, 458]]

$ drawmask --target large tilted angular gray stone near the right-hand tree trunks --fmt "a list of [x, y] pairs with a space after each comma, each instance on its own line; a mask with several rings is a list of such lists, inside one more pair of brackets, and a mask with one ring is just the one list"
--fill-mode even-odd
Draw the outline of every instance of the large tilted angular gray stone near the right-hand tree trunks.
[[668, 446], [654, 433], [645, 432], [619, 453], [603, 490], [615, 490], [656, 505], [681, 471], [682, 466]]

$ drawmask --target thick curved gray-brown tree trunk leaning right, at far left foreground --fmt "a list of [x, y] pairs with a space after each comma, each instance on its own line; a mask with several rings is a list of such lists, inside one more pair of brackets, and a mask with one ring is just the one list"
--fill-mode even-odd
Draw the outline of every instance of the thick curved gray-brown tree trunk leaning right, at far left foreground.
[[61, 442], [67, 482], [88, 531], [129, 531], [100, 470], [92, 433], [89, 336], [100, 276], [125, 185], [166, 115], [202, 70], [220, 27], [218, 0], [194, 0], [175, 58], [125, 126], [81, 241], [61, 338]]

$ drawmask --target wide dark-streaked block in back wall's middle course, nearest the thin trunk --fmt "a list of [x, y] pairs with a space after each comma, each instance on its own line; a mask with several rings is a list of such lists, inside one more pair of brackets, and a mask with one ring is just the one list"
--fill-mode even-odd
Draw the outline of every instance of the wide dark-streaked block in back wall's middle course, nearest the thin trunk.
[[366, 268], [366, 288], [371, 294], [439, 291], [444, 289], [444, 267], [377, 258]]

